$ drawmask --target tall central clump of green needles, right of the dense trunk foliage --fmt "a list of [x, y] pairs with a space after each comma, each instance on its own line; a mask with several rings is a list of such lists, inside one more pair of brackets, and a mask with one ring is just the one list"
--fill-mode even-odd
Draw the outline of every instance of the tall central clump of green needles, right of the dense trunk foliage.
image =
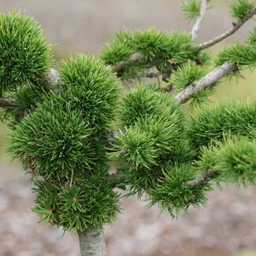
[[140, 84], [124, 95], [118, 117], [126, 128], [113, 141], [113, 155], [130, 186], [128, 195], [150, 191], [166, 161], [191, 159], [194, 152], [182, 136], [184, 114], [169, 95]]

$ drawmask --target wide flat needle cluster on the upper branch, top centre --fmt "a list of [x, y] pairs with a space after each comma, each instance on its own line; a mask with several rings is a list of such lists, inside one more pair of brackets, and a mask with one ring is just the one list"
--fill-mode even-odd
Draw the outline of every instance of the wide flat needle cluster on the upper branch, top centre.
[[119, 73], [122, 80], [143, 76], [151, 67], [161, 72], [170, 65], [194, 60], [198, 55], [196, 46], [191, 44], [191, 35], [185, 32], [160, 32], [155, 28], [145, 31], [119, 32], [116, 37], [102, 50], [101, 58], [109, 65], [117, 65], [128, 61], [132, 54], [141, 58], [130, 62]]

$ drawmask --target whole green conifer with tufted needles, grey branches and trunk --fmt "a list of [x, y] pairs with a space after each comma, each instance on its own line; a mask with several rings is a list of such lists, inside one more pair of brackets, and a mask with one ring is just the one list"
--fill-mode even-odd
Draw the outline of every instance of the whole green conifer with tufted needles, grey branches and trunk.
[[[256, 28], [222, 49], [215, 67], [206, 49], [250, 20], [256, 6], [234, 1], [232, 28], [198, 45], [209, 2], [181, 6], [195, 20], [191, 33], [117, 32], [98, 58], [76, 54], [59, 71], [50, 68], [51, 46], [39, 24], [23, 13], [1, 13], [8, 151], [31, 177], [40, 222], [78, 232], [82, 255], [106, 255], [103, 230], [121, 212], [120, 189], [178, 217], [206, 205], [215, 184], [255, 184], [256, 102], [210, 107], [207, 99], [223, 77], [254, 69]], [[133, 87], [122, 93], [127, 81]], [[195, 115], [184, 112], [184, 102]]]

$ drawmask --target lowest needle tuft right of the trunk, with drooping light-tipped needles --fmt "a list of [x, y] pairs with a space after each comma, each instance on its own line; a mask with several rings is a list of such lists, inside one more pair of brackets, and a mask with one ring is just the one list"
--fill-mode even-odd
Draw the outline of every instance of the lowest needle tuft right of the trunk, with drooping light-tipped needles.
[[205, 191], [210, 190], [210, 185], [208, 183], [203, 186], [187, 184], [188, 181], [196, 178], [191, 165], [167, 163], [162, 172], [164, 176], [150, 192], [149, 206], [158, 204], [161, 210], [168, 210], [173, 217], [177, 217], [180, 210], [186, 210], [188, 206], [198, 207], [206, 204]]

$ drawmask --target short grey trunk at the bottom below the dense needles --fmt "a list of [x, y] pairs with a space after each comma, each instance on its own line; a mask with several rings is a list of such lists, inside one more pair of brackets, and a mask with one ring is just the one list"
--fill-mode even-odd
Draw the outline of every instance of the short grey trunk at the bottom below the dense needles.
[[98, 230], [78, 232], [81, 256], [106, 256], [105, 239]]

